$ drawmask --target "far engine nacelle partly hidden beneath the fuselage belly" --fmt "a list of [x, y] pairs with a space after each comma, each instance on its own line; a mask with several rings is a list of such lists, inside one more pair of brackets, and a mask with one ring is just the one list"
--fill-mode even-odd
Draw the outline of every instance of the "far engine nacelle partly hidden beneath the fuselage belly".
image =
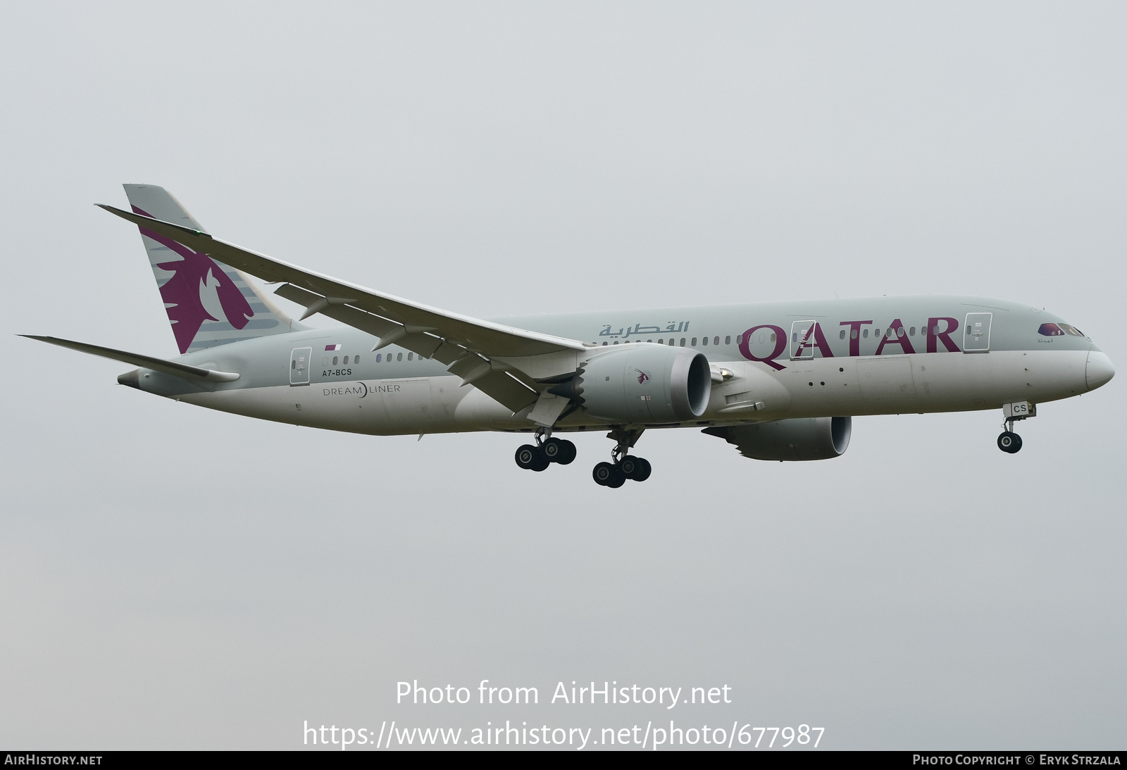
[[841, 457], [849, 448], [853, 418], [792, 418], [753, 426], [706, 428], [744, 457], [766, 460], [811, 460]]

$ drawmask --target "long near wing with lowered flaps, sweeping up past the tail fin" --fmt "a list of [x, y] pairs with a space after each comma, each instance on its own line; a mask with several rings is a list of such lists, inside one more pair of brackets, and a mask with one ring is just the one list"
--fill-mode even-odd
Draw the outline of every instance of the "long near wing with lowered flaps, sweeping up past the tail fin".
[[398, 344], [425, 358], [442, 361], [450, 367], [452, 374], [461, 376], [464, 383], [472, 383], [514, 412], [535, 402], [544, 386], [540, 386], [524, 373], [492, 360], [494, 358], [586, 350], [586, 346], [577, 340], [429, 307], [305, 270], [227, 243], [198, 230], [114, 206], [99, 206], [139, 225], [142, 232], [150, 230], [170, 238], [264, 281], [284, 284], [275, 294], [304, 305], [307, 311], [302, 317], [321, 313], [378, 337], [380, 342], [373, 350]]

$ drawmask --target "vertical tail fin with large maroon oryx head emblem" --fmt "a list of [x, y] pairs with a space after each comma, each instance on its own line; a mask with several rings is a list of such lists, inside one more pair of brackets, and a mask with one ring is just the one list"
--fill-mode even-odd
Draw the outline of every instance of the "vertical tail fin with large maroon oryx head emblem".
[[[125, 185], [135, 214], [206, 232], [157, 185]], [[180, 352], [302, 329], [246, 275], [207, 254], [140, 227]]]

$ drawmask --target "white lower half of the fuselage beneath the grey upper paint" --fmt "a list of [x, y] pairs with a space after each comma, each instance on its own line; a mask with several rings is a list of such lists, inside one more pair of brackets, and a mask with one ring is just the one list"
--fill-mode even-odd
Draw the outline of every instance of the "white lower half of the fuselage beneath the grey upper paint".
[[[904, 414], [996, 409], [1046, 402], [1088, 391], [1084, 351], [996, 351], [988, 356], [914, 353], [762, 364], [711, 361], [734, 376], [713, 385], [708, 411], [683, 426], [728, 424], [801, 417]], [[531, 429], [452, 375], [356, 378], [185, 394], [180, 400], [236, 414], [380, 436]], [[742, 404], [762, 404], [740, 410]], [[731, 410], [731, 406], [736, 406]], [[727, 411], [726, 411], [727, 410]], [[582, 413], [557, 430], [607, 424]], [[651, 426], [657, 427], [657, 426]], [[675, 427], [675, 426], [663, 426]]]

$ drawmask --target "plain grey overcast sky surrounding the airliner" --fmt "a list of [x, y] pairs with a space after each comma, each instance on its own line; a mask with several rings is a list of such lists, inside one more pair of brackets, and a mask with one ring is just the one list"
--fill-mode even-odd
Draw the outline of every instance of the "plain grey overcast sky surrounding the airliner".
[[[136, 230], [91, 205], [152, 182], [474, 315], [979, 294], [1122, 369], [1125, 37], [1113, 2], [5, 3], [0, 745], [672, 716], [1121, 749], [1122, 374], [1015, 456], [995, 412], [859, 419], [811, 464], [651, 431], [612, 491], [601, 436], [530, 474], [513, 436], [256, 422], [14, 334], [175, 355]], [[407, 679], [541, 705], [396, 706]], [[571, 680], [733, 704], [544, 702]]]

